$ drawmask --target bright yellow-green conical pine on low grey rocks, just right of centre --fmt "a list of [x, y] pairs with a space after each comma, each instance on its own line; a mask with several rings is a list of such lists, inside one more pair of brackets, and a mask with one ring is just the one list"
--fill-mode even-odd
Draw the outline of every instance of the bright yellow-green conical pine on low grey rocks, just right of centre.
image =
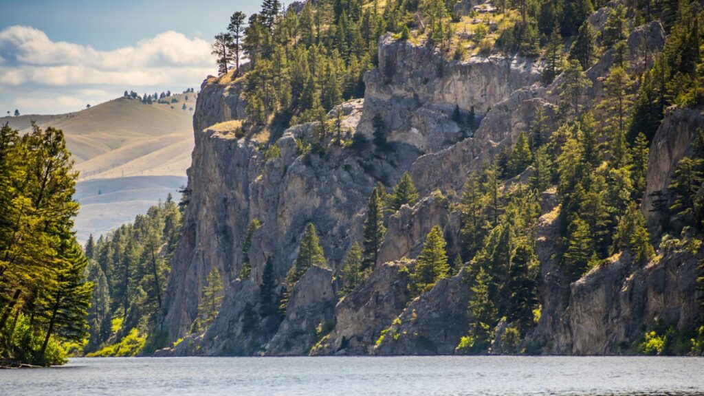
[[439, 279], [447, 278], [450, 267], [445, 253], [445, 240], [439, 226], [434, 226], [425, 237], [411, 278], [417, 293], [430, 290]]

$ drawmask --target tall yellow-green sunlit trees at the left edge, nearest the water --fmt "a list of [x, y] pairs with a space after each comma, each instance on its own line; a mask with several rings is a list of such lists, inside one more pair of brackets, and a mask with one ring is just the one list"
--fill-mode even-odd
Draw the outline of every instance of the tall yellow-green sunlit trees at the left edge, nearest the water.
[[82, 342], [93, 284], [77, 245], [77, 172], [63, 132], [0, 128], [0, 359], [62, 364]]

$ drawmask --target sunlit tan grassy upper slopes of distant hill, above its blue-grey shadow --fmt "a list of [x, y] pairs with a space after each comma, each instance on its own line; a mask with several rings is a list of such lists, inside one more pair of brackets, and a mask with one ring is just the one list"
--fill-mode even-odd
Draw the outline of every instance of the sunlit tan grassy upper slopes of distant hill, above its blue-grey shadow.
[[[189, 109], [195, 107], [195, 95], [177, 94], [168, 99], [177, 99], [177, 103], [142, 104], [136, 99], [118, 98], [75, 113], [3, 117], [0, 123], [9, 122], [11, 127], [25, 131], [34, 120], [42, 127], [63, 130], [80, 180], [182, 176], [190, 165], [193, 148], [193, 112]], [[182, 110], [183, 104], [186, 110]]]

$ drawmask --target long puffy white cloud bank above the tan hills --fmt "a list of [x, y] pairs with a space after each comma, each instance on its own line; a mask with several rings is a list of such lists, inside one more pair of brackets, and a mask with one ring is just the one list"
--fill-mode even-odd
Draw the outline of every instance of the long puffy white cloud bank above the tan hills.
[[0, 31], [0, 85], [165, 86], [193, 84], [215, 70], [210, 44], [164, 32], [133, 47], [98, 51], [54, 42], [41, 30], [14, 25]]

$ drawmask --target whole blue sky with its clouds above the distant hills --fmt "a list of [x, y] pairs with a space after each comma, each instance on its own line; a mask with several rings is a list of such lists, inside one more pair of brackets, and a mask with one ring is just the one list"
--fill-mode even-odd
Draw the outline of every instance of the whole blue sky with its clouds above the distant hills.
[[0, 0], [0, 116], [56, 114], [122, 96], [199, 89], [210, 43], [260, 0]]

